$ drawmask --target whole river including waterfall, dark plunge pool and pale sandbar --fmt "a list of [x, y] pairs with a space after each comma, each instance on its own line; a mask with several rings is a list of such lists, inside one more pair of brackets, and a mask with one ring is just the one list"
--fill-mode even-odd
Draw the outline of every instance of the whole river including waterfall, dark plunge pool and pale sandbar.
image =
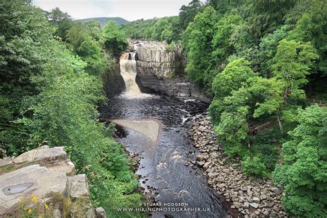
[[219, 196], [194, 165], [197, 150], [188, 135], [190, 121], [207, 105], [141, 93], [135, 54], [123, 54], [120, 64], [126, 92], [106, 101], [101, 120], [118, 123], [117, 140], [141, 157], [139, 183], [162, 209], [152, 217], [226, 217]]

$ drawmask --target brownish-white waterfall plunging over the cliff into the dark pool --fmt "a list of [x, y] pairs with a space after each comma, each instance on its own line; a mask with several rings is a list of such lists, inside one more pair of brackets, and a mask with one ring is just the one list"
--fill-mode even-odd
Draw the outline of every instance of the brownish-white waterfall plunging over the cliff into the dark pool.
[[139, 90], [136, 83], [137, 65], [135, 60], [135, 53], [129, 52], [121, 55], [120, 61], [120, 74], [125, 82], [126, 91], [121, 94], [121, 97], [126, 98], [143, 98], [150, 97]]

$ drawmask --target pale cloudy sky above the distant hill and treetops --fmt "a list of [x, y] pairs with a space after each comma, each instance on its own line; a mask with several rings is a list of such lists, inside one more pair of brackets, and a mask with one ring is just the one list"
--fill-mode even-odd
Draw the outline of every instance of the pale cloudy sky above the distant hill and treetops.
[[60, 8], [73, 19], [121, 17], [128, 21], [174, 16], [191, 0], [33, 0], [43, 10]]

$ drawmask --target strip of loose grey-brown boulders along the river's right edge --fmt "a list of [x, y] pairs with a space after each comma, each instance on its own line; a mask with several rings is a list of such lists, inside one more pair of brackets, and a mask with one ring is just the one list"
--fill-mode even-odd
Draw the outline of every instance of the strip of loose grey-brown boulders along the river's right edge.
[[239, 159], [223, 154], [207, 114], [195, 117], [189, 134], [199, 149], [192, 164], [204, 169], [208, 184], [226, 199], [230, 217], [287, 216], [281, 207], [281, 190], [273, 187], [270, 179], [251, 179], [242, 173]]

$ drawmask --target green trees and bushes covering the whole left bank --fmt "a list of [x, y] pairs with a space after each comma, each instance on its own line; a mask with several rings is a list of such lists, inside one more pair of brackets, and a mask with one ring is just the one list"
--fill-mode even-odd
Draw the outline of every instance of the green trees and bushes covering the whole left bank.
[[16, 156], [41, 145], [65, 146], [88, 176], [95, 206], [110, 217], [142, 202], [123, 146], [98, 123], [101, 75], [127, 45], [115, 23], [79, 23], [28, 0], [0, 2], [1, 148]]

